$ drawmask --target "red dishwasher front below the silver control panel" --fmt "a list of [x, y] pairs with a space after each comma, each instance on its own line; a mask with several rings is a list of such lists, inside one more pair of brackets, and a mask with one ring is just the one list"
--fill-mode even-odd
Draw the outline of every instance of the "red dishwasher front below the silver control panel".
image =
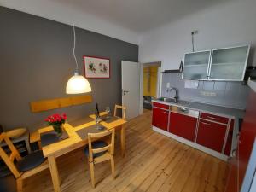
[[195, 117], [171, 112], [169, 131], [193, 142], [195, 139], [196, 123], [197, 118]]

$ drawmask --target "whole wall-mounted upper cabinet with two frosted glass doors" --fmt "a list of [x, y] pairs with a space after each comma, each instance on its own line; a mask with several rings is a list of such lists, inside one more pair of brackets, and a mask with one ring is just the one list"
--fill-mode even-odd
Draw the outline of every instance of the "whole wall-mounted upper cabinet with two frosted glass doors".
[[185, 54], [183, 79], [242, 81], [249, 49], [244, 45]]

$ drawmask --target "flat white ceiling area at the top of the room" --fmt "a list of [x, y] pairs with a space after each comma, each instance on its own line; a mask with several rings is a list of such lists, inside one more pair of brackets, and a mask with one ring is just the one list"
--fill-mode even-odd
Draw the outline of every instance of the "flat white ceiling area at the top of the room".
[[[43, 1], [43, 0], [42, 0]], [[146, 32], [224, 0], [51, 0], [109, 20], [134, 32]]]

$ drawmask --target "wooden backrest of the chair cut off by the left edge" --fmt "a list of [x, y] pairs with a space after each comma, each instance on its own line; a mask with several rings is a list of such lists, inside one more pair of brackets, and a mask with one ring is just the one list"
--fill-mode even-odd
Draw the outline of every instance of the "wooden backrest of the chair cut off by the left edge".
[[6, 166], [9, 167], [9, 170], [15, 175], [16, 178], [20, 177], [21, 173], [15, 166], [15, 160], [21, 160], [21, 156], [17, 149], [15, 148], [14, 144], [10, 141], [9, 137], [7, 137], [6, 133], [3, 132], [0, 135], [0, 143], [5, 142], [10, 149], [10, 154], [7, 154], [3, 147], [0, 146], [0, 157], [5, 162]]

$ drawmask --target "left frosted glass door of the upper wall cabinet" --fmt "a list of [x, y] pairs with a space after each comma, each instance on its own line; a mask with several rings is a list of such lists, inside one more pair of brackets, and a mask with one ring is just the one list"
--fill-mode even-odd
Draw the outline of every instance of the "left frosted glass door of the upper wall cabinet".
[[185, 54], [183, 79], [207, 79], [211, 51]]

